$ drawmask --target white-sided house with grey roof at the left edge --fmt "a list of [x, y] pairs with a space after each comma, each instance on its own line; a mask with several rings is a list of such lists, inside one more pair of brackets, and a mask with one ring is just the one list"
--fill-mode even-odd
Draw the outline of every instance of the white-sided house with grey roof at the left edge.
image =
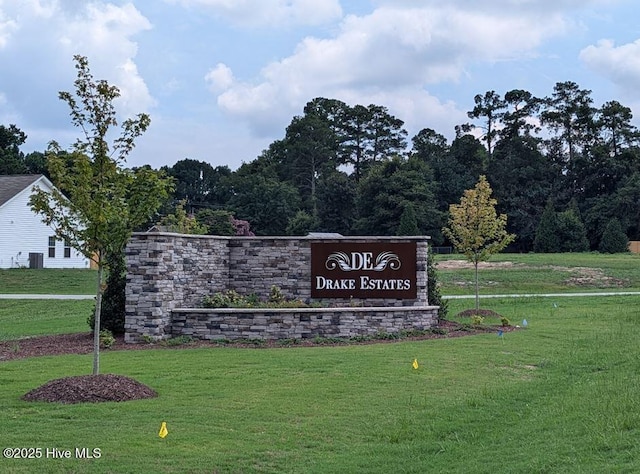
[[35, 186], [54, 188], [43, 175], [0, 176], [0, 268], [89, 268], [89, 259], [56, 239], [31, 210]]

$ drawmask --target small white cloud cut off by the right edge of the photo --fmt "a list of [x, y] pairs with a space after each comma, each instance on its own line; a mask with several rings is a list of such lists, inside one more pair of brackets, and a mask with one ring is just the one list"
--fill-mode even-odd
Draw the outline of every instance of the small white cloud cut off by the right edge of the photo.
[[580, 59], [627, 94], [639, 98], [640, 39], [621, 46], [616, 46], [612, 40], [600, 40], [596, 45], [584, 48]]

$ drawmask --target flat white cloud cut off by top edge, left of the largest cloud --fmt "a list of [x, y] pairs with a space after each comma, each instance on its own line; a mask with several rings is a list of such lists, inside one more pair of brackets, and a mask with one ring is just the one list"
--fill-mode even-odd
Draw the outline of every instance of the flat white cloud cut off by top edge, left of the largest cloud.
[[339, 0], [165, 0], [202, 8], [243, 27], [321, 25], [342, 16]]

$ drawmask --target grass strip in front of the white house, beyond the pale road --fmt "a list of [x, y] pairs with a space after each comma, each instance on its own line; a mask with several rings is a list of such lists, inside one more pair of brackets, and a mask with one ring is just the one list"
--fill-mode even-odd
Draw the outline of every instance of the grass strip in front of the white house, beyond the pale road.
[[0, 270], [0, 293], [93, 295], [96, 278], [95, 270], [12, 268]]

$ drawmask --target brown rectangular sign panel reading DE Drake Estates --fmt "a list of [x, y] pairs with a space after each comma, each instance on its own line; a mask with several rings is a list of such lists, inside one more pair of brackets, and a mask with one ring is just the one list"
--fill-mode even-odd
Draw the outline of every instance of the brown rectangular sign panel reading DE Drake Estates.
[[312, 298], [416, 296], [415, 242], [311, 244]]

